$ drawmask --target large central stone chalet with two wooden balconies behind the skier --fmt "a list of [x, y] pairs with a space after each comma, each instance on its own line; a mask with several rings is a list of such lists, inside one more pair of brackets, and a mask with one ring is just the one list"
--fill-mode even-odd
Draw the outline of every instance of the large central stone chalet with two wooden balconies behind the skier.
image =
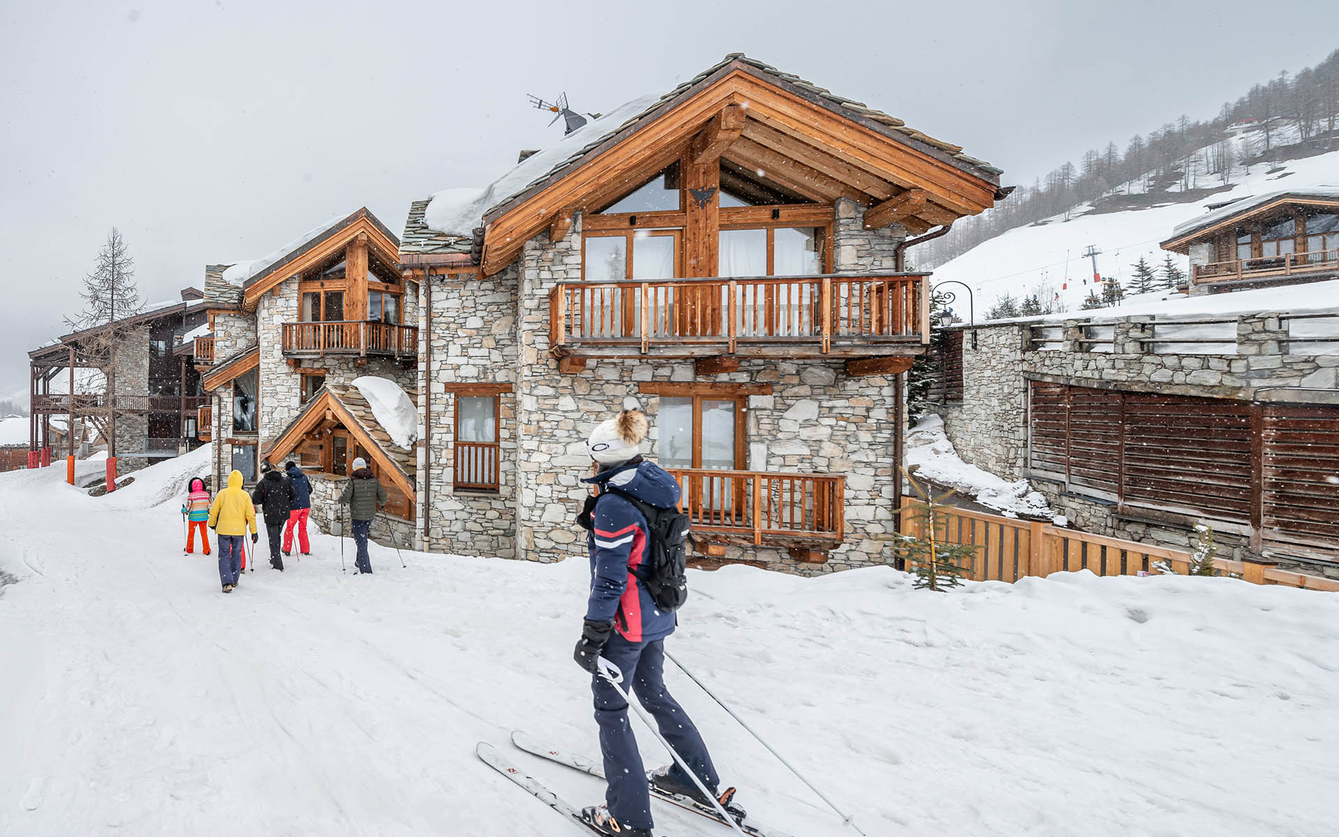
[[[522, 155], [483, 190], [414, 202], [399, 267], [419, 289], [416, 542], [580, 552], [586, 434], [636, 403], [712, 558], [798, 572], [889, 561], [902, 379], [929, 340], [928, 277], [905, 269], [907, 250], [1007, 194], [999, 174], [731, 55]], [[317, 275], [266, 276], [244, 307], [277, 328], [287, 315], [265, 305], [296, 304]], [[293, 387], [296, 371], [283, 372]], [[296, 388], [285, 398], [262, 434], [292, 421]], [[288, 429], [304, 441], [280, 449], [352, 431], [344, 395], [327, 398]]]

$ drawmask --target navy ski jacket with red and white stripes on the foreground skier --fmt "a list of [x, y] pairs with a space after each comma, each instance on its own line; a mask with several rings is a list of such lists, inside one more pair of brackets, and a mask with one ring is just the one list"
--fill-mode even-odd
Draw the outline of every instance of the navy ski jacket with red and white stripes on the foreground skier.
[[679, 505], [679, 482], [659, 465], [640, 459], [582, 479], [600, 486], [586, 534], [590, 549], [590, 600], [586, 619], [613, 621], [629, 643], [674, 633], [675, 616], [656, 608], [637, 568], [648, 560], [647, 518], [619, 493], [661, 509]]

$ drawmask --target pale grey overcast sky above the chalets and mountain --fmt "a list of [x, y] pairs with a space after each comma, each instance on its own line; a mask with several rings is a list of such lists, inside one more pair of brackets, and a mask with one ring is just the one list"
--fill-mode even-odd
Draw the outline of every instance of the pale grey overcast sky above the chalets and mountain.
[[399, 233], [561, 135], [526, 94], [608, 111], [746, 52], [1023, 183], [1339, 47], [1332, 1], [1271, 8], [0, 0], [0, 394], [27, 398], [112, 225], [146, 301], [363, 205]]

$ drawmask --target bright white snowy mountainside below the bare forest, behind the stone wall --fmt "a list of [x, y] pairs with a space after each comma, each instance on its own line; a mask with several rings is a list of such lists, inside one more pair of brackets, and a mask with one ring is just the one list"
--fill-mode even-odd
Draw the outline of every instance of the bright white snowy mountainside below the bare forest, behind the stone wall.
[[[1010, 293], [1020, 297], [1040, 285], [1051, 287], [1070, 311], [1078, 311], [1094, 288], [1093, 262], [1082, 256], [1089, 245], [1102, 252], [1097, 257], [1102, 276], [1115, 276], [1125, 285], [1130, 279], [1130, 265], [1141, 257], [1150, 265], [1161, 264], [1168, 252], [1160, 249], [1158, 242], [1168, 240], [1177, 224], [1202, 214], [1209, 204], [1280, 189], [1336, 183], [1339, 151], [1331, 151], [1283, 162], [1273, 173], [1267, 171], [1264, 165], [1253, 166], [1231, 189], [1196, 202], [1111, 213], [1085, 212], [1081, 208], [1069, 221], [1056, 216], [991, 238], [936, 268], [933, 281], [956, 280], [971, 287], [977, 320], [1000, 296]], [[1173, 254], [1173, 258], [1182, 271], [1188, 271], [1185, 257]], [[955, 309], [965, 319], [965, 300], [955, 303]]]

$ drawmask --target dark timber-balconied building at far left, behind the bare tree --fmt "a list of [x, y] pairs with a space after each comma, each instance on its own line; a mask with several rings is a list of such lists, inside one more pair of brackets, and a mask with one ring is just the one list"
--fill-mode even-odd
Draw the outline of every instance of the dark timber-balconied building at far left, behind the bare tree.
[[[112, 441], [110, 449], [122, 473], [197, 447], [197, 410], [205, 396], [200, 374], [178, 350], [185, 335], [204, 323], [201, 291], [186, 288], [178, 303], [153, 305], [28, 352], [29, 461], [50, 463], [52, 457], [75, 455], [76, 441], [58, 431], [55, 416], [63, 419], [62, 427], [91, 425], [103, 441]], [[108, 366], [114, 370], [114, 398], [106, 387], [102, 392], [76, 391], [80, 370]], [[115, 427], [110, 426], [112, 407]]]

